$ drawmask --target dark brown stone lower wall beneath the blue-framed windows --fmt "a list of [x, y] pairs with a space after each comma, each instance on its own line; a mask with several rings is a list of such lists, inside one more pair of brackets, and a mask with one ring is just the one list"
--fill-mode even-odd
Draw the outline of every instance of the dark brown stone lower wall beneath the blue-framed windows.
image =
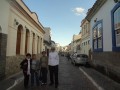
[[93, 52], [91, 54], [92, 66], [120, 83], [120, 52]]

